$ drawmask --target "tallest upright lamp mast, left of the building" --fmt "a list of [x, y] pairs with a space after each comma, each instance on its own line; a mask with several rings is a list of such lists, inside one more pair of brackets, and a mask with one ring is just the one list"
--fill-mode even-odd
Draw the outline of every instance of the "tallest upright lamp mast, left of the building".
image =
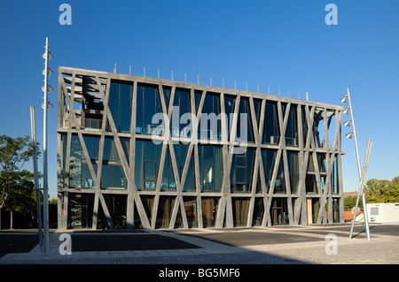
[[49, 101], [48, 92], [48, 62], [49, 62], [49, 38], [46, 37], [44, 68], [44, 109], [43, 109], [43, 226], [44, 226], [44, 255], [49, 255], [49, 187], [47, 182], [47, 108]]

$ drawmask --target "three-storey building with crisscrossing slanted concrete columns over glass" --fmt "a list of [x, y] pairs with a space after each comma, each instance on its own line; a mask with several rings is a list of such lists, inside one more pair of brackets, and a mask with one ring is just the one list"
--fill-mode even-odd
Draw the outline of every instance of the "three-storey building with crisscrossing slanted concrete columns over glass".
[[342, 223], [343, 110], [59, 67], [59, 228]]

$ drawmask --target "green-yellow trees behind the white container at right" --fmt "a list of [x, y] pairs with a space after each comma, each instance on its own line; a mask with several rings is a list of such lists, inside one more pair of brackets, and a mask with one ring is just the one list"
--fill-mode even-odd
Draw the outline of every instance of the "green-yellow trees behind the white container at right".
[[364, 194], [366, 202], [399, 202], [399, 176], [392, 180], [368, 180]]

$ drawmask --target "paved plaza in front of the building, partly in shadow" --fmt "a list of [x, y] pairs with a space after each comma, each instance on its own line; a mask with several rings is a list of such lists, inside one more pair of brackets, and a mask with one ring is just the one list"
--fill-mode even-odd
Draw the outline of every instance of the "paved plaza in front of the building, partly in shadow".
[[[399, 225], [53, 231], [43, 256], [35, 232], [0, 232], [1, 264], [399, 264]], [[60, 254], [69, 234], [71, 255]], [[64, 244], [66, 245], [66, 244]], [[64, 246], [63, 245], [63, 246]], [[66, 248], [61, 246], [61, 253]]]

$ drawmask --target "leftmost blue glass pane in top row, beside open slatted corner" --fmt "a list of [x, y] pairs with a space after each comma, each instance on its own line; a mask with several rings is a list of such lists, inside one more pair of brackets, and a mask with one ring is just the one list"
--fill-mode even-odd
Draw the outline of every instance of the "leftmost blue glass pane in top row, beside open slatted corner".
[[[113, 80], [109, 90], [108, 106], [113, 116], [116, 131], [130, 132], [131, 100], [133, 83]], [[107, 128], [110, 131], [110, 128]]]

